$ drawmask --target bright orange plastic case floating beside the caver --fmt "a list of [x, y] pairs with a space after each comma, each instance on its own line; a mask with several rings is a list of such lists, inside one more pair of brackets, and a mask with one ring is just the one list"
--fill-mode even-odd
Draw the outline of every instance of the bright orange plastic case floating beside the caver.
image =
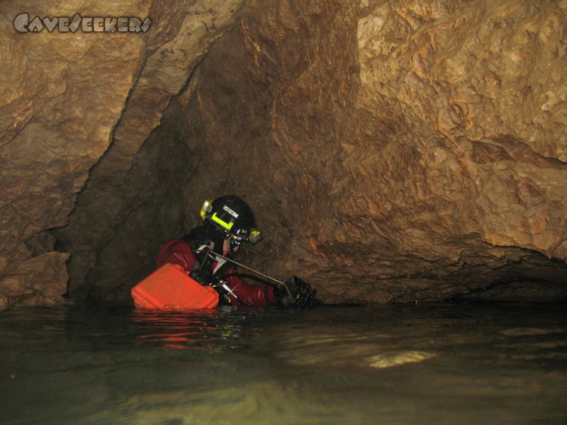
[[218, 305], [217, 291], [187, 276], [181, 266], [169, 263], [135, 285], [130, 293], [137, 308], [179, 311]]

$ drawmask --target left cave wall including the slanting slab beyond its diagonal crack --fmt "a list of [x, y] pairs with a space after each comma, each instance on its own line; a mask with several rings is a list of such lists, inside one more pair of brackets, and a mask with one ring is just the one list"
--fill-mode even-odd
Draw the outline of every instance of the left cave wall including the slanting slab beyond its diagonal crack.
[[[69, 275], [74, 292], [119, 227], [141, 215], [133, 212], [143, 203], [140, 182], [129, 186], [133, 163], [143, 163], [136, 154], [239, 8], [240, 1], [0, 4], [0, 306], [62, 302]], [[80, 13], [150, 17], [152, 24], [145, 33], [18, 33], [20, 13], [30, 21]], [[146, 190], [152, 179], [142, 183]], [[174, 223], [182, 212], [148, 214]], [[123, 273], [142, 267], [144, 249]]]

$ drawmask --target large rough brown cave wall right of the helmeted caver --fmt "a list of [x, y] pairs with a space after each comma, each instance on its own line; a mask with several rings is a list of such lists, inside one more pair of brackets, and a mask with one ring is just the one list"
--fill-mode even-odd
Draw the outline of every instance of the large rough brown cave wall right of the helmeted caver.
[[266, 230], [247, 261], [326, 300], [564, 293], [563, 6], [252, 5], [201, 64], [193, 214], [235, 188]]

